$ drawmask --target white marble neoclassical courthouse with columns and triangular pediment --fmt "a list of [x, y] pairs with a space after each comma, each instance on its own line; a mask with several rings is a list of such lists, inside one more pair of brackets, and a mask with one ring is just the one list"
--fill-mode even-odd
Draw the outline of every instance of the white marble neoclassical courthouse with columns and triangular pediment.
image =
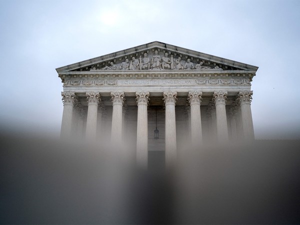
[[158, 41], [56, 68], [63, 82], [61, 137], [132, 144], [175, 160], [186, 141], [254, 139], [257, 66]]

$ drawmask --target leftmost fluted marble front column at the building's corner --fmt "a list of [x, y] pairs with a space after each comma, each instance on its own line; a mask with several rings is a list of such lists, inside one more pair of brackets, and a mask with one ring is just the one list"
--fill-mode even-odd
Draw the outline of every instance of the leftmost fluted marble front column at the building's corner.
[[61, 92], [63, 102], [63, 112], [61, 120], [60, 137], [69, 138], [72, 132], [73, 107], [77, 102], [74, 92]]

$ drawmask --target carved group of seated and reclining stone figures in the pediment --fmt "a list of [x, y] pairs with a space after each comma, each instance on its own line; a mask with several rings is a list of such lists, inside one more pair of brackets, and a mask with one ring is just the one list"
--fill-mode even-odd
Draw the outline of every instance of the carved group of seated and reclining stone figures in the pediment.
[[[218, 67], [217, 65], [214, 68], [209, 66], [203, 66], [203, 62], [200, 61], [195, 66], [188, 58], [184, 65], [181, 63], [181, 57], [176, 59], [173, 58], [173, 55], [168, 57], [168, 54], [165, 52], [164, 56], [158, 54], [158, 51], [154, 51], [154, 55], [151, 59], [147, 56], [147, 53], [144, 53], [144, 57], [142, 58], [139, 56], [139, 59], [132, 57], [129, 63], [129, 60], [126, 58], [125, 61], [121, 62], [119, 67], [113, 62], [110, 62], [110, 66], [105, 66], [101, 68], [101, 70], [160, 70], [160, 69], [217, 69], [222, 70], [222, 68]], [[92, 67], [90, 70], [98, 70], [95, 67]]]

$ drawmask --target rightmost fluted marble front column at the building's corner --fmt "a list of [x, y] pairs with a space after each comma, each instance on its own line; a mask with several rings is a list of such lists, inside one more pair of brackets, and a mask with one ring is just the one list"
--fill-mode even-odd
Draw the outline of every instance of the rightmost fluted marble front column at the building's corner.
[[237, 96], [240, 104], [240, 115], [244, 140], [254, 140], [254, 129], [251, 113], [253, 91], [239, 91]]

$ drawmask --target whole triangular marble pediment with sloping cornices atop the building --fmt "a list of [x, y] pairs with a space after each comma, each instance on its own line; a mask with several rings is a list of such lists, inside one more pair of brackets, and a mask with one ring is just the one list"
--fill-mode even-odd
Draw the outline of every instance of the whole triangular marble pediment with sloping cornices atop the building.
[[[146, 56], [144, 55], [146, 53]], [[134, 57], [136, 65], [132, 60]], [[148, 63], [146, 62], [148, 58]], [[155, 60], [158, 62], [154, 64]], [[164, 63], [166, 60], [169, 63]], [[123, 63], [123, 64], [122, 64]], [[126, 68], [127, 66], [127, 68]], [[104, 70], [168, 70], [168, 69], [196, 69], [209, 70], [246, 70], [256, 71], [257, 66], [249, 65], [226, 58], [178, 47], [175, 45], [153, 41], [125, 50], [80, 61], [56, 68], [59, 72], [71, 71], [104, 71]], [[164, 66], [164, 67], [163, 67]]]

